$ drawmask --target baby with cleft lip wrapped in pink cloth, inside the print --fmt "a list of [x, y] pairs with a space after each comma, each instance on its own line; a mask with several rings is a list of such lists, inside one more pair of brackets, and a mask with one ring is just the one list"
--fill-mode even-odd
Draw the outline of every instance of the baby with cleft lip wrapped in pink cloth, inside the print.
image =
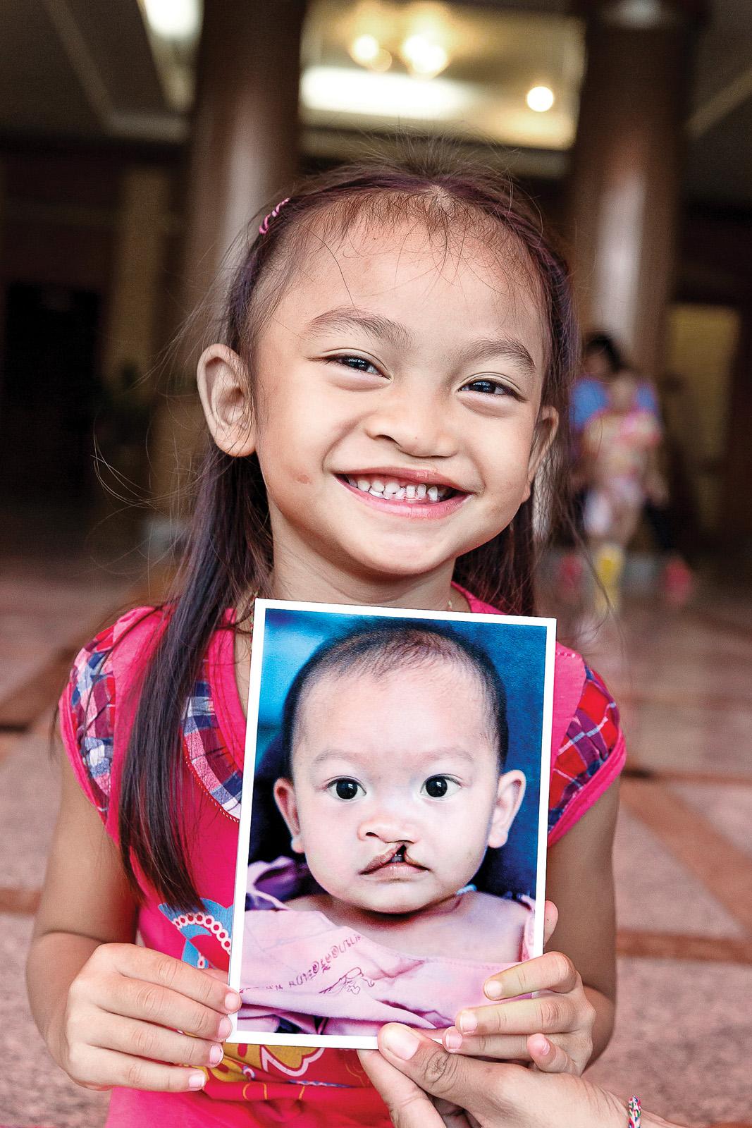
[[531, 948], [532, 902], [468, 884], [525, 787], [493, 662], [433, 623], [355, 629], [299, 671], [281, 739], [274, 797], [304, 864], [249, 866], [240, 1030], [450, 1025]]

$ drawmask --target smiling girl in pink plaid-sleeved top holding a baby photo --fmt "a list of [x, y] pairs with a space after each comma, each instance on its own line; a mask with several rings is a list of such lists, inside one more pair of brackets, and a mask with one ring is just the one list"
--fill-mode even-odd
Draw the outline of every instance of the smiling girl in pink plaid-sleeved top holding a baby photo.
[[[29, 992], [53, 1058], [114, 1087], [110, 1126], [388, 1123], [353, 1054], [222, 1057], [254, 598], [531, 613], [531, 492], [576, 359], [565, 266], [505, 179], [340, 168], [260, 224], [198, 362], [212, 442], [183, 582], [94, 640], [61, 704]], [[463, 1012], [448, 1048], [530, 1059], [543, 1031], [581, 1072], [605, 1046], [622, 761], [608, 690], [559, 649], [559, 951], [522, 966], [525, 995], [554, 995]]]

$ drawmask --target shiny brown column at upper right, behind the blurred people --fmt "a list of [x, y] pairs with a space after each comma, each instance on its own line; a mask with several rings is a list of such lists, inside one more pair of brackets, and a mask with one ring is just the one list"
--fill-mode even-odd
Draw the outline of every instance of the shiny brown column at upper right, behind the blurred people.
[[663, 364], [683, 122], [702, 0], [582, 0], [587, 65], [570, 177], [584, 329], [612, 333], [646, 373]]

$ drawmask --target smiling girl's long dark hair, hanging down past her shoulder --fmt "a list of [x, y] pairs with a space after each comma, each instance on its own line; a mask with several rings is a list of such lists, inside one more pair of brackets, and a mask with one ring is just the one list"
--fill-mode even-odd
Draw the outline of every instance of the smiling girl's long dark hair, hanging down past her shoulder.
[[[253, 238], [229, 287], [216, 340], [253, 373], [259, 332], [309, 248], [336, 241], [359, 222], [390, 227], [406, 219], [443, 237], [446, 247], [453, 237], [460, 247], [472, 232], [489, 248], [503, 244], [507, 264], [538, 299], [547, 343], [542, 403], [559, 416], [542, 472], [542, 497], [550, 526], [560, 527], [559, 508], [568, 497], [568, 389], [580, 341], [566, 265], [508, 177], [471, 169], [466, 158], [434, 156], [344, 166], [311, 177], [292, 192], [264, 235], [249, 229]], [[531, 496], [506, 529], [460, 557], [454, 570], [454, 579], [475, 596], [521, 615], [533, 610], [532, 509]], [[212, 634], [233, 629], [225, 611], [237, 609], [236, 626], [242, 625], [254, 596], [267, 592], [271, 571], [268, 502], [258, 459], [232, 458], [210, 443], [182, 574], [143, 679], [120, 802], [121, 855], [134, 890], [135, 861], [176, 907], [198, 904], [180, 814], [186, 704]]]

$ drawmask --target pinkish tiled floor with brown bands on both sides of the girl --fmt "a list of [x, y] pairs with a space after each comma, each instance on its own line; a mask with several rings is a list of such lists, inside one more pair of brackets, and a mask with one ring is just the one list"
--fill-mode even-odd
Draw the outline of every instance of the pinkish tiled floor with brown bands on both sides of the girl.
[[[104, 1122], [107, 1098], [47, 1057], [23, 964], [56, 808], [47, 748], [61, 670], [140, 594], [132, 570], [81, 569], [70, 554], [5, 561], [0, 1125]], [[591, 1076], [691, 1126], [752, 1126], [752, 597], [707, 584], [682, 613], [635, 603], [582, 646], [622, 703], [630, 748], [616, 846], [619, 1012]]]

